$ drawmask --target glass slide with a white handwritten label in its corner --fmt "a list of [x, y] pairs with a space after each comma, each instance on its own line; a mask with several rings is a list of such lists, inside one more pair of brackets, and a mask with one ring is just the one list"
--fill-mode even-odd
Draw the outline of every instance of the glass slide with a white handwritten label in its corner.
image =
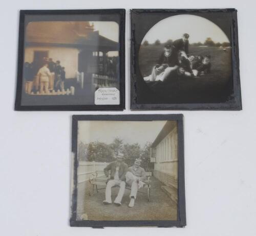
[[125, 11], [101, 12], [20, 12], [17, 110], [123, 109]]

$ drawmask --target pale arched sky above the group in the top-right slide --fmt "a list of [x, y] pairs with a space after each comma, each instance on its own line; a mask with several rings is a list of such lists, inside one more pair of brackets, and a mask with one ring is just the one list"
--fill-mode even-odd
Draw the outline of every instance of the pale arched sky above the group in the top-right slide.
[[203, 43], [207, 37], [214, 42], [229, 42], [225, 33], [215, 23], [201, 16], [183, 14], [170, 16], [156, 23], [144, 36], [142, 43], [145, 40], [149, 43], [154, 43], [157, 39], [161, 42], [176, 40], [184, 33], [189, 34], [189, 43]]

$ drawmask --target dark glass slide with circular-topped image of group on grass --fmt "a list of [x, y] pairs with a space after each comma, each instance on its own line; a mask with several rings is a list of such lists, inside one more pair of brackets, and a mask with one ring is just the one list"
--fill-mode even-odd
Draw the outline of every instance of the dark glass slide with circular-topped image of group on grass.
[[181, 12], [131, 11], [131, 108], [242, 109], [236, 10]]

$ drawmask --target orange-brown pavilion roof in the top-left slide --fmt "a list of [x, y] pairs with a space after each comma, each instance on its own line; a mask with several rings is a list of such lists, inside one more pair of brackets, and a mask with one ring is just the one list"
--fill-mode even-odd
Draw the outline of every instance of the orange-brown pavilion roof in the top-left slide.
[[89, 21], [38, 21], [26, 28], [26, 45], [65, 46], [118, 51], [118, 42], [94, 31]]

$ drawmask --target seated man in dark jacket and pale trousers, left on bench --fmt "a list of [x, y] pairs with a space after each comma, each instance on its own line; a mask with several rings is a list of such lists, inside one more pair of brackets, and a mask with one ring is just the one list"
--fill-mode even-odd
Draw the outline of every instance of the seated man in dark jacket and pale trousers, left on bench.
[[113, 186], [120, 186], [114, 204], [117, 206], [121, 205], [122, 197], [125, 190], [125, 174], [127, 172], [127, 168], [127, 164], [123, 162], [123, 153], [120, 152], [116, 156], [116, 161], [111, 162], [107, 167], [105, 167], [104, 174], [106, 177], [109, 177], [110, 171], [110, 177], [106, 183], [105, 200], [103, 201], [103, 204], [112, 204], [111, 188]]

